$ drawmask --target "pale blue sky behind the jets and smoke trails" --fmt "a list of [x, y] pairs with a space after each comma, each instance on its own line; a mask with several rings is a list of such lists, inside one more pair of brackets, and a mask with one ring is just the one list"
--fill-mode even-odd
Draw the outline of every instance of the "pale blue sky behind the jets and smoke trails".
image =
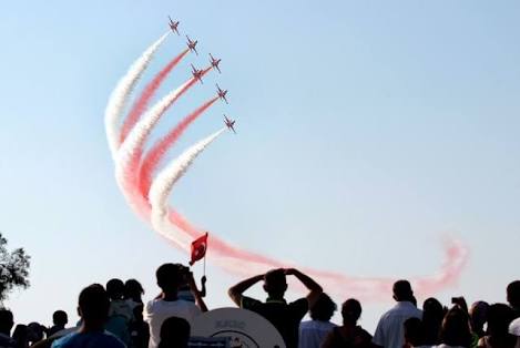
[[[111, 90], [169, 14], [201, 55], [161, 93], [208, 52], [223, 74], [154, 135], [214, 82], [231, 104], [197, 121], [172, 156], [218, 129], [222, 113], [238, 131], [176, 186], [179, 211], [248, 249], [359, 276], [430, 274], [451, 233], [471, 256], [438, 296], [504, 300], [520, 242], [517, 1], [11, 1], [0, 4], [0, 231], [33, 257], [31, 288], [8, 301], [20, 321], [73, 313], [83, 286], [111, 277], [140, 279], [151, 298], [155, 268], [186, 259], [126, 206], [103, 129]], [[183, 48], [171, 35], [145, 80]], [[208, 273], [210, 307], [231, 305], [238, 279]], [[388, 298], [364, 304], [363, 325], [375, 326]]]

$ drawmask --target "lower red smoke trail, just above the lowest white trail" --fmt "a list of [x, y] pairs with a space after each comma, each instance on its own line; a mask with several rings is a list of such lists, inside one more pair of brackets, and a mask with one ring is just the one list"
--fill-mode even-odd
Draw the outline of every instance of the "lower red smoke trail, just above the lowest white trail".
[[140, 190], [144, 197], [147, 197], [149, 195], [150, 186], [152, 185], [153, 172], [164, 158], [167, 150], [173, 146], [179, 137], [182, 136], [184, 131], [217, 100], [218, 96], [215, 96], [202, 104], [194, 112], [184, 117], [173, 130], [170, 131], [170, 133], [167, 133], [150, 150], [141, 163], [141, 170], [139, 173]]

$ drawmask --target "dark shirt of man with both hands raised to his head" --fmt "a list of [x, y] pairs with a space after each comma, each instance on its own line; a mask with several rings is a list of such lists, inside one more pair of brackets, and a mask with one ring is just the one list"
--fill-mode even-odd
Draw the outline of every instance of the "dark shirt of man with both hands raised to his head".
[[278, 330], [287, 348], [298, 347], [299, 321], [307, 314], [308, 301], [300, 298], [287, 304], [285, 300], [267, 298], [265, 303], [243, 296], [242, 308], [249, 309], [266, 318]]

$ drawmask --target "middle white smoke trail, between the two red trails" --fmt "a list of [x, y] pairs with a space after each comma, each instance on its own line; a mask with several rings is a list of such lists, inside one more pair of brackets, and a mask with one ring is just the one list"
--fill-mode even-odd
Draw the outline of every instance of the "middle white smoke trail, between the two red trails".
[[159, 122], [161, 116], [166, 112], [170, 105], [179, 98], [179, 94], [182, 93], [186, 86], [192, 83], [193, 79], [187, 80], [177, 89], [171, 91], [163, 99], [161, 99], [155, 105], [150, 109], [141, 120], [134, 125], [132, 131], [130, 131], [126, 140], [121, 144], [121, 147], [118, 152], [118, 167], [120, 174], [118, 177], [122, 178], [123, 172], [129, 172], [128, 166], [132, 161], [132, 157], [137, 151], [143, 146], [146, 137], [152, 132], [152, 129]]

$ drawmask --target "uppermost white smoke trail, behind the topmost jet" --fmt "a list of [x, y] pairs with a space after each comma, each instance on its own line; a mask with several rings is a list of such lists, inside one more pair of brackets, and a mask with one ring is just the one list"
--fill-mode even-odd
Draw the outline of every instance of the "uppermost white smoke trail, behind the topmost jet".
[[104, 126], [112, 157], [115, 160], [119, 147], [119, 122], [124, 105], [132, 93], [133, 88], [143, 74], [159, 47], [164, 42], [170, 31], [150, 45], [146, 51], [130, 66], [126, 74], [119, 81], [110, 95], [104, 113]]

